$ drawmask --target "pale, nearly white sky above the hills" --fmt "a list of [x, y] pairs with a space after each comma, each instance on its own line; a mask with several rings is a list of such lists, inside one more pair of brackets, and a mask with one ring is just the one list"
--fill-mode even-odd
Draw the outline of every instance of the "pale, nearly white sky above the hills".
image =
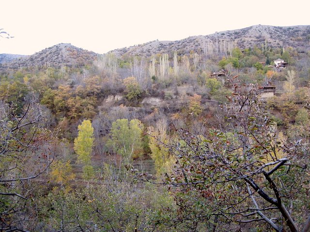
[[57, 43], [106, 53], [252, 25], [310, 25], [306, 0], [0, 0], [0, 54]]

